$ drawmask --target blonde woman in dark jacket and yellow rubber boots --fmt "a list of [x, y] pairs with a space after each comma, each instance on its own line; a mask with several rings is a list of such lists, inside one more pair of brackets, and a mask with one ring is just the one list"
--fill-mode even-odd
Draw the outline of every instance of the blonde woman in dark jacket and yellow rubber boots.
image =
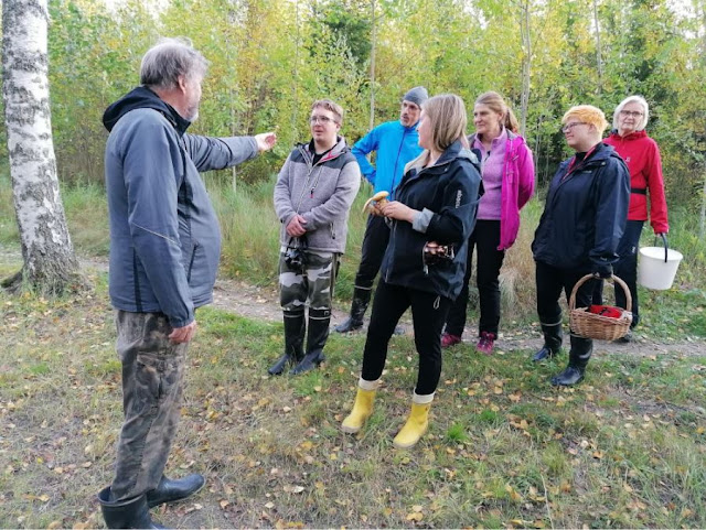
[[405, 169], [396, 201], [376, 206], [391, 226], [363, 353], [363, 371], [344, 432], [355, 433], [373, 412], [387, 344], [402, 314], [411, 306], [419, 371], [411, 412], [395, 436], [411, 447], [428, 426], [441, 374], [441, 329], [461, 290], [468, 237], [475, 224], [481, 182], [475, 156], [463, 147], [466, 107], [452, 94], [422, 105], [419, 145], [425, 151]]

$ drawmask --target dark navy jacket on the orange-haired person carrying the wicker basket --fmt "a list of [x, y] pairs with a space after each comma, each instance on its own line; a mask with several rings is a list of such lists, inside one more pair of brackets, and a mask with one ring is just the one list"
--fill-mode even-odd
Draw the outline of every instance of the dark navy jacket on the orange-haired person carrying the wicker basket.
[[630, 203], [630, 173], [613, 148], [599, 143], [588, 158], [559, 165], [535, 231], [536, 261], [595, 272], [618, 259]]

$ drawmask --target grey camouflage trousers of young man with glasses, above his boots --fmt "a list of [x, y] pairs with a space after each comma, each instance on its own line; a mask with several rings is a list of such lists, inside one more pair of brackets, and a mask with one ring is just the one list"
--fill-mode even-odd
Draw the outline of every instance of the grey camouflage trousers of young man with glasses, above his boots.
[[309, 309], [330, 314], [333, 285], [339, 272], [339, 255], [306, 250], [306, 262], [301, 268], [291, 268], [285, 259], [285, 249], [279, 253], [279, 302], [285, 314], [303, 314], [307, 301]]

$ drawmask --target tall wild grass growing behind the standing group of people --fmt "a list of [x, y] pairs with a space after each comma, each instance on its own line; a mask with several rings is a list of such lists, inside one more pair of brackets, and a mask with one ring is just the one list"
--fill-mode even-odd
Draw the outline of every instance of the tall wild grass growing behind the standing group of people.
[[[276, 176], [268, 182], [239, 185], [233, 190], [223, 180], [205, 176], [208, 192], [221, 220], [223, 252], [221, 274], [239, 278], [259, 285], [277, 284], [279, 256], [279, 221], [272, 207]], [[346, 252], [342, 258], [335, 298], [350, 300], [361, 259], [366, 215], [361, 210], [372, 188], [363, 184], [349, 218]], [[98, 184], [62, 186], [72, 239], [79, 253], [103, 256], [108, 249], [108, 219], [105, 191]], [[12, 207], [9, 177], [0, 174], [0, 244], [19, 241]], [[532, 199], [522, 210], [517, 240], [507, 250], [501, 271], [503, 327], [525, 326], [536, 320], [534, 260], [531, 245], [544, 209], [539, 198]], [[684, 255], [675, 286], [666, 292], [640, 288], [641, 309], [644, 306], [645, 327], [661, 335], [694, 333], [706, 335], [706, 247], [698, 239], [698, 219], [683, 208], [670, 212], [670, 246]], [[651, 227], [645, 226], [641, 246], [653, 245]], [[661, 244], [660, 244], [661, 245]], [[478, 317], [478, 291], [471, 279], [470, 318]], [[696, 310], [695, 315], [692, 315]]]

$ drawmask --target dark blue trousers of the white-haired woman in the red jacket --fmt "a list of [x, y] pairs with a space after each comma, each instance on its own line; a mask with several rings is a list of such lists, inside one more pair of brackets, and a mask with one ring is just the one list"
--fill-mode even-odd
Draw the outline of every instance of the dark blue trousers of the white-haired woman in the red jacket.
[[[613, 264], [613, 274], [620, 278], [630, 290], [632, 298], [632, 323], [630, 327], [635, 327], [640, 321], [638, 311], [638, 249], [640, 246], [640, 235], [642, 234], [643, 220], [629, 220], [625, 224], [625, 231], [618, 244], [618, 261]], [[602, 304], [602, 283], [597, 282], [593, 290], [593, 303]], [[620, 285], [616, 286], [616, 305], [628, 309], [625, 292]]]

